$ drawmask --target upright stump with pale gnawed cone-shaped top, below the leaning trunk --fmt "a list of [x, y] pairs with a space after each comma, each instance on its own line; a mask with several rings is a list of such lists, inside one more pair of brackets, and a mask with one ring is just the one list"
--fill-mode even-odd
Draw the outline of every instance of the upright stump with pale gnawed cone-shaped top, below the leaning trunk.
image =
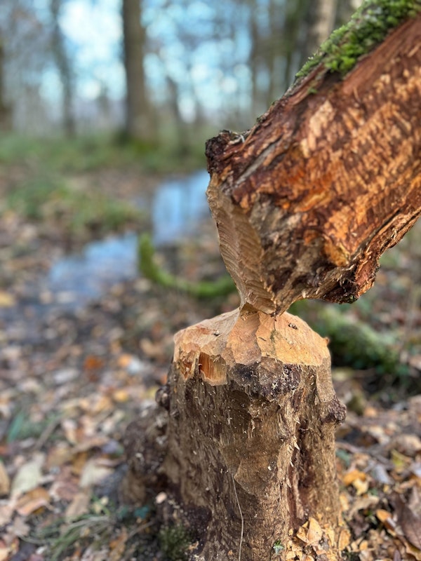
[[[327, 342], [285, 313], [225, 313], [175, 336], [170, 488], [206, 520], [201, 559], [269, 559], [309, 513], [338, 525]], [[320, 462], [320, 463], [319, 463]], [[243, 516], [241, 518], [240, 514]], [[276, 515], [275, 515], [276, 513]]]

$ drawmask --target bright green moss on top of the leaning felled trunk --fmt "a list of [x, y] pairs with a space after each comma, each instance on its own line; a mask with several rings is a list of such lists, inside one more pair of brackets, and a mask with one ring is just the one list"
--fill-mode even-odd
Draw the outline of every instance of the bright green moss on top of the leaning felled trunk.
[[297, 78], [307, 76], [320, 63], [345, 76], [361, 56], [381, 43], [390, 29], [421, 12], [421, 0], [366, 0], [349, 23], [330, 34], [307, 60]]

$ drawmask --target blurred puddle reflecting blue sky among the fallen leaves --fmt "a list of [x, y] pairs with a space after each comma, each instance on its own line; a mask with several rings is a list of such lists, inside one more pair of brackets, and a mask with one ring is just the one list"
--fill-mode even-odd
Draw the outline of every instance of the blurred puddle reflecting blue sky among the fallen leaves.
[[[166, 245], [198, 231], [209, 213], [205, 194], [208, 180], [206, 170], [201, 170], [161, 184], [149, 205], [139, 198], [138, 204], [151, 210], [155, 245]], [[130, 233], [88, 243], [79, 255], [63, 257], [53, 264], [46, 290], [60, 304], [86, 304], [112, 285], [138, 276], [137, 250], [137, 236]]]

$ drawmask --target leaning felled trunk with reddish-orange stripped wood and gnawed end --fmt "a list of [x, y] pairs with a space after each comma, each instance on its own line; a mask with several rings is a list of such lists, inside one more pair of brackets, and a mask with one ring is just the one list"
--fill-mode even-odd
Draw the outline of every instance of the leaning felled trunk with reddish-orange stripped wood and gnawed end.
[[418, 15], [345, 80], [318, 67], [249, 133], [208, 142], [208, 200], [242, 304], [352, 302], [373, 285], [421, 212], [420, 122]]

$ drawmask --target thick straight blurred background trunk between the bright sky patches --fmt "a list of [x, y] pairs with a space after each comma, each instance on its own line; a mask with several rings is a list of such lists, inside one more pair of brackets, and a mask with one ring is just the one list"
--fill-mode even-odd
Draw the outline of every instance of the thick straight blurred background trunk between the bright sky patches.
[[146, 31], [142, 26], [142, 0], [123, 0], [124, 68], [126, 69], [126, 133], [151, 140], [154, 128], [145, 77]]

